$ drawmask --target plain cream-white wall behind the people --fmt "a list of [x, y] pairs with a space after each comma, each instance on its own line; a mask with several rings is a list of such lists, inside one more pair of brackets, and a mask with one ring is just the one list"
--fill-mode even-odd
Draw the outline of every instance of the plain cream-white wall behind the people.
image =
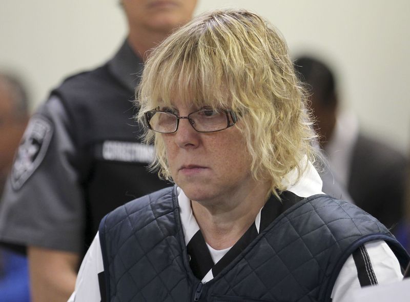
[[[126, 34], [117, 0], [1, 0], [0, 68], [29, 84], [33, 109], [66, 75], [103, 62]], [[337, 71], [343, 106], [363, 128], [410, 150], [410, 1], [199, 0], [197, 12], [243, 7], [267, 17], [293, 55]]]

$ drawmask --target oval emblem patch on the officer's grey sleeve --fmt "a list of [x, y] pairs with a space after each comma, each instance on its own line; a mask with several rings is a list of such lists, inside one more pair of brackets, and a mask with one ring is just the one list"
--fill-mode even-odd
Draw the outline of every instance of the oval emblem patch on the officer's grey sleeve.
[[10, 180], [14, 190], [19, 190], [43, 161], [52, 134], [53, 127], [45, 118], [30, 120], [11, 169]]

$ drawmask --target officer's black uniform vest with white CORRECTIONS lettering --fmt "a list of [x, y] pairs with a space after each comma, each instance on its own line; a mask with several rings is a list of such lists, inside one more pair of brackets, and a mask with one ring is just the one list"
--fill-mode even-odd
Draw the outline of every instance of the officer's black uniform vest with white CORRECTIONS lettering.
[[[77, 157], [87, 208], [86, 244], [92, 241], [100, 220], [119, 205], [159, 190], [167, 184], [138, 162], [141, 129], [133, 116], [134, 91], [110, 73], [108, 65], [68, 78], [52, 91], [69, 117], [69, 135]], [[104, 149], [105, 148], [105, 149]]]

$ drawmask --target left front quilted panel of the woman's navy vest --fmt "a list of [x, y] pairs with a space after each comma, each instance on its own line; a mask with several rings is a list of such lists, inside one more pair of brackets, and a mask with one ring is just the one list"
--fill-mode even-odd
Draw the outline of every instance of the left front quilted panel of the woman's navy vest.
[[[171, 273], [183, 272], [182, 253], [176, 229], [165, 227], [175, 224], [172, 202], [153, 203], [169, 196], [169, 188], [162, 191], [122, 206], [106, 219], [106, 225], [110, 225], [112, 219], [120, 218], [105, 231], [112, 242], [107, 251], [112, 301], [176, 301], [172, 293], [179, 292], [180, 287], [187, 288], [185, 274]], [[121, 293], [121, 298], [117, 293]]]

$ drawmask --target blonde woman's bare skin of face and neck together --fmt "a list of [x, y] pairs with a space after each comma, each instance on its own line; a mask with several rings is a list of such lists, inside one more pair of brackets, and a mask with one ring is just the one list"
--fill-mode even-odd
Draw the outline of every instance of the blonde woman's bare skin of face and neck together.
[[[198, 110], [174, 103], [179, 116]], [[173, 134], [161, 134], [175, 183], [191, 199], [205, 241], [217, 250], [232, 247], [266, 202], [269, 182], [255, 181], [251, 157], [239, 130], [199, 133], [187, 119]], [[184, 168], [186, 167], [186, 168]]]

